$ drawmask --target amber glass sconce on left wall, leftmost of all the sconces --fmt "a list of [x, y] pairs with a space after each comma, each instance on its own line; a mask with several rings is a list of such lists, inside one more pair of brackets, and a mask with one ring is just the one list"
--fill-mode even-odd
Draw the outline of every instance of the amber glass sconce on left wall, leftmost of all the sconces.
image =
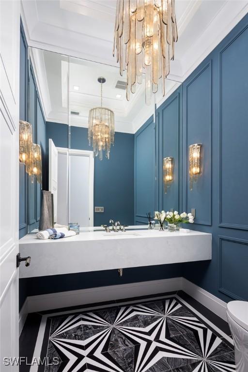
[[32, 125], [22, 120], [19, 121], [19, 160], [26, 164], [32, 146]]

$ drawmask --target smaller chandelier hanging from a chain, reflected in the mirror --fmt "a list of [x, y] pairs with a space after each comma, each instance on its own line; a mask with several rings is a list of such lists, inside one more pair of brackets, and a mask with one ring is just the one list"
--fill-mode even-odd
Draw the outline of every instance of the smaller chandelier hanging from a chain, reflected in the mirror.
[[110, 146], [114, 143], [114, 113], [103, 105], [103, 83], [105, 78], [98, 78], [101, 83], [101, 107], [95, 107], [89, 113], [88, 140], [89, 145], [93, 144], [93, 156], [99, 154], [99, 159], [103, 159], [103, 150], [109, 159]]

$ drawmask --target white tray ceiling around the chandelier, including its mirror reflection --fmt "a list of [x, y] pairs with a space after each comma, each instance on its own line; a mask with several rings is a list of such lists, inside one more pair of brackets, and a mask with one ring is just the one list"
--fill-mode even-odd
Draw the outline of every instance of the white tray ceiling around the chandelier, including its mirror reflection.
[[[184, 81], [245, 16], [248, 0], [175, 2], [179, 40], [169, 78]], [[114, 88], [116, 81], [122, 79], [112, 57], [115, 6], [116, 0], [22, 0], [22, 20], [30, 46], [93, 61], [70, 61], [70, 110], [80, 113], [80, 117], [71, 119], [71, 124], [87, 126], [89, 109], [99, 104], [97, 78], [105, 76], [103, 104], [114, 110], [117, 130], [134, 133], [152, 114], [153, 107], [144, 105], [144, 84], [129, 103], [124, 91]], [[33, 62], [47, 120], [65, 122], [66, 57], [49, 57], [34, 51]], [[78, 92], [74, 85], [79, 86]], [[177, 86], [178, 83], [168, 81], [167, 96]], [[116, 98], [118, 93], [122, 94], [120, 99]], [[159, 105], [166, 97], [156, 94], [155, 99]]]

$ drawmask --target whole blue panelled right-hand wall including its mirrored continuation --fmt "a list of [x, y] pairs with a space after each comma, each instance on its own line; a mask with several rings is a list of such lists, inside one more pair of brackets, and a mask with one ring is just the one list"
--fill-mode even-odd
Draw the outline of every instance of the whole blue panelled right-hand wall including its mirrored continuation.
[[[152, 119], [135, 134], [135, 179], [141, 174], [143, 181], [151, 181], [156, 173], [147, 193], [146, 184], [136, 182], [136, 222], [152, 205], [187, 212], [195, 208], [195, 223], [189, 227], [212, 233], [212, 260], [184, 263], [182, 276], [227, 302], [248, 300], [247, 45], [248, 15], [156, 109], [154, 135]], [[190, 191], [188, 146], [193, 143], [202, 143], [202, 176]], [[153, 149], [149, 156], [155, 156], [156, 167], [149, 162], [142, 166], [139, 156], [146, 148]], [[175, 158], [175, 182], [167, 194], [164, 156]]]

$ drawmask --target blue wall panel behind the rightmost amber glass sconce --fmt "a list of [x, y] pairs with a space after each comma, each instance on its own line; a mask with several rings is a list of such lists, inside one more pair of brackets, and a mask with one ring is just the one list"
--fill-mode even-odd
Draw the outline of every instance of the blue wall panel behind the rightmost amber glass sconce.
[[[184, 120], [186, 120], [186, 211], [196, 209], [195, 223], [211, 225], [211, 60], [197, 69], [184, 83]], [[188, 146], [202, 143], [202, 175], [189, 189]]]

